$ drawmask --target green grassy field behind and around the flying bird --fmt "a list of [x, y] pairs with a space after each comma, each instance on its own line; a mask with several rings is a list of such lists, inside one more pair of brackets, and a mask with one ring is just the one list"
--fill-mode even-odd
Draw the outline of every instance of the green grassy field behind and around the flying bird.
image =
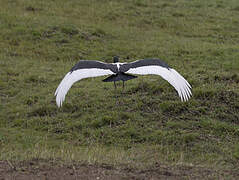
[[[238, 0], [1, 0], [0, 159], [238, 169], [238, 17]], [[124, 91], [99, 77], [57, 108], [76, 62], [114, 55], [164, 60], [193, 97], [158, 76]]]

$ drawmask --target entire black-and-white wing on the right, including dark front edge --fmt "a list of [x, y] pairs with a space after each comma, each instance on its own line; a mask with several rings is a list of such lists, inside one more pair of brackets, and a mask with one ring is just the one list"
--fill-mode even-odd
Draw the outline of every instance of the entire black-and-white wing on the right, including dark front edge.
[[120, 70], [131, 74], [160, 75], [176, 89], [182, 101], [187, 101], [192, 95], [191, 85], [184, 77], [159, 59], [143, 59], [126, 63], [121, 66]]

